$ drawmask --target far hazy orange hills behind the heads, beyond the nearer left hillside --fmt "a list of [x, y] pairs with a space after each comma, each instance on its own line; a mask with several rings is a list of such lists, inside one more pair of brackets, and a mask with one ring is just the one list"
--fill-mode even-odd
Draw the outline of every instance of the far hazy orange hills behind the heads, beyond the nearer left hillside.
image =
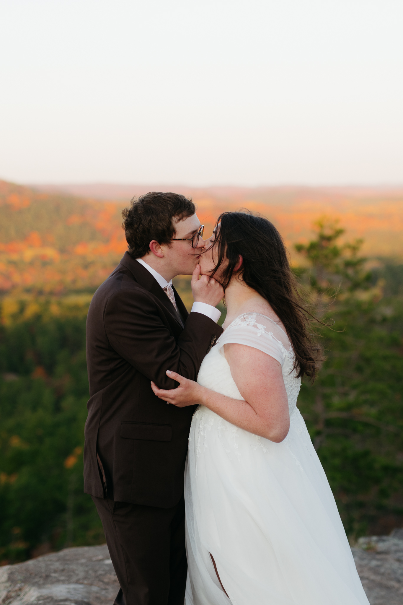
[[340, 218], [349, 238], [363, 237], [370, 256], [403, 257], [403, 186], [396, 187], [231, 187], [184, 185], [37, 185], [41, 191], [123, 203], [147, 191], [177, 191], [193, 198], [202, 222], [220, 212], [250, 208], [276, 224], [289, 246], [309, 238], [312, 221], [320, 215]]

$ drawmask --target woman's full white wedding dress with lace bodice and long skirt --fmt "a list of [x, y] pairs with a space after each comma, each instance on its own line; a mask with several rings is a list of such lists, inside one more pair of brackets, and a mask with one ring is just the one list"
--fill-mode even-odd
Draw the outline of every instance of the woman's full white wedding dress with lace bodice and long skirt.
[[292, 371], [285, 332], [266, 316], [247, 313], [204, 358], [199, 384], [242, 399], [224, 356], [228, 342], [258, 348], [280, 362], [291, 423], [286, 439], [274, 443], [204, 406], [193, 415], [185, 470], [185, 605], [369, 605], [295, 405], [300, 379]]

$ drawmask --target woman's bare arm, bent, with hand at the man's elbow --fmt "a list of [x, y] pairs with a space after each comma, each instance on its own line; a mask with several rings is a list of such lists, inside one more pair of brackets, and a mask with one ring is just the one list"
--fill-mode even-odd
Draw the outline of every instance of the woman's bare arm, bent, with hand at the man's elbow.
[[179, 382], [179, 387], [162, 390], [152, 382], [154, 393], [178, 407], [205, 405], [236, 427], [279, 443], [289, 430], [288, 399], [281, 365], [266, 353], [247, 345], [233, 343], [224, 347], [231, 375], [245, 401], [211, 391], [175, 372], [167, 374]]

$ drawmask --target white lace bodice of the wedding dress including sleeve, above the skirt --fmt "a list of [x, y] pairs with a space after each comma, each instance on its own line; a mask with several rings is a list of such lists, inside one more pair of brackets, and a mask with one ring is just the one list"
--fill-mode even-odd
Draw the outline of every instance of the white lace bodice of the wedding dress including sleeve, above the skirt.
[[260, 313], [244, 313], [228, 325], [216, 345], [205, 356], [199, 370], [198, 383], [233, 399], [243, 399], [224, 355], [224, 345], [230, 342], [257, 348], [281, 364], [291, 417], [301, 386], [301, 379], [297, 378], [294, 369], [294, 352], [288, 336], [280, 326]]

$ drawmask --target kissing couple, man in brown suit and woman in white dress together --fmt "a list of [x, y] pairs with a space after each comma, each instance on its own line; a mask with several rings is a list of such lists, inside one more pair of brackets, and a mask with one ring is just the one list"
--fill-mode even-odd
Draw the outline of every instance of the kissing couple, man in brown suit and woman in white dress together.
[[204, 240], [174, 193], [123, 217], [128, 250], [86, 327], [84, 489], [114, 605], [369, 605], [296, 407], [318, 347], [279, 232], [224, 212]]

